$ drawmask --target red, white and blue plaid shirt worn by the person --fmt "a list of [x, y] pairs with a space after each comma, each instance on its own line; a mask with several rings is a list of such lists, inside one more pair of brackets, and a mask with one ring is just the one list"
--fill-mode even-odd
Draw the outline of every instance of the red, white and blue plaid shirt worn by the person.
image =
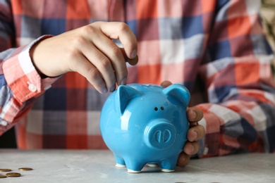
[[243, 0], [0, 0], [0, 134], [16, 125], [20, 149], [106, 149], [99, 115], [109, 94], [75, 72], [41, 79], [28, 51], [43, 35], [116, 20], [138, 39], [140, 61], [128, 65], [128, 83], [184, 84], [190, 106], [204, 111], [200, 157], [274, 152], [273, 57], [259, 7]]

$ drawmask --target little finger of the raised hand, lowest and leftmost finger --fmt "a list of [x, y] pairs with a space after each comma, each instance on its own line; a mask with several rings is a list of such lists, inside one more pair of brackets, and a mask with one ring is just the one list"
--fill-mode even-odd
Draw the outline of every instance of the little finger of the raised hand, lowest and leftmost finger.
[[90, 61], [87, 61], [87, 58], [85, 56], [79, 54], [78, 57], [75, 59], [74, 68], [72, 69], [75, 72], [79, 72], [80, 75], [86, 77], [86, 79], [94, 86], [95, 89], [97, 89], [100, 93], [106, 93], [106, 84], [98, 72], [97, 68], [90, 63]]

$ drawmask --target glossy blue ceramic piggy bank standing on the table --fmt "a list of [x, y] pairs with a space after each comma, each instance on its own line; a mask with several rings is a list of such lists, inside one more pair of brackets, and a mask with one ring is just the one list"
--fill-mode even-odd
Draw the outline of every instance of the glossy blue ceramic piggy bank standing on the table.
[[187, 141], [189, 101], [190, 93], [181, 84], [119, 86], [100, 115], [102, 137], [116, 166], [140, 172], [149, 163], [173, 172]]

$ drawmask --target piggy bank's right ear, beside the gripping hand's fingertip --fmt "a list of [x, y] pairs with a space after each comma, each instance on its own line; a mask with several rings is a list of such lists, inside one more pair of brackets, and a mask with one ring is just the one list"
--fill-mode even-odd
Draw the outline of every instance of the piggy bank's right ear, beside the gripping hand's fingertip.
[[181, 101], [181, 103], [184, 104], [185, 107], [188, 106], [188, 103], [190, 101], [190, 92], [187, 88], [183, 87], [181, 84], [171, 84], [169, 87], [166, 87], [163, 90], [163, 93], [168, 96], [173, 96], [178, 101]]

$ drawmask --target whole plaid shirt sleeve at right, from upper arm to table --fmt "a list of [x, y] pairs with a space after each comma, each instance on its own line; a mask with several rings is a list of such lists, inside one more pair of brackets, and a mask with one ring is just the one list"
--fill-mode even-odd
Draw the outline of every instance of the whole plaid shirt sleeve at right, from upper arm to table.
[[[221, 3], [224, 2], [224, 3]], [[200, 67], [209, 103], [199, 157], [275, 151], [273, 55], [259, 20], [260, 1], [219, 1]]]

